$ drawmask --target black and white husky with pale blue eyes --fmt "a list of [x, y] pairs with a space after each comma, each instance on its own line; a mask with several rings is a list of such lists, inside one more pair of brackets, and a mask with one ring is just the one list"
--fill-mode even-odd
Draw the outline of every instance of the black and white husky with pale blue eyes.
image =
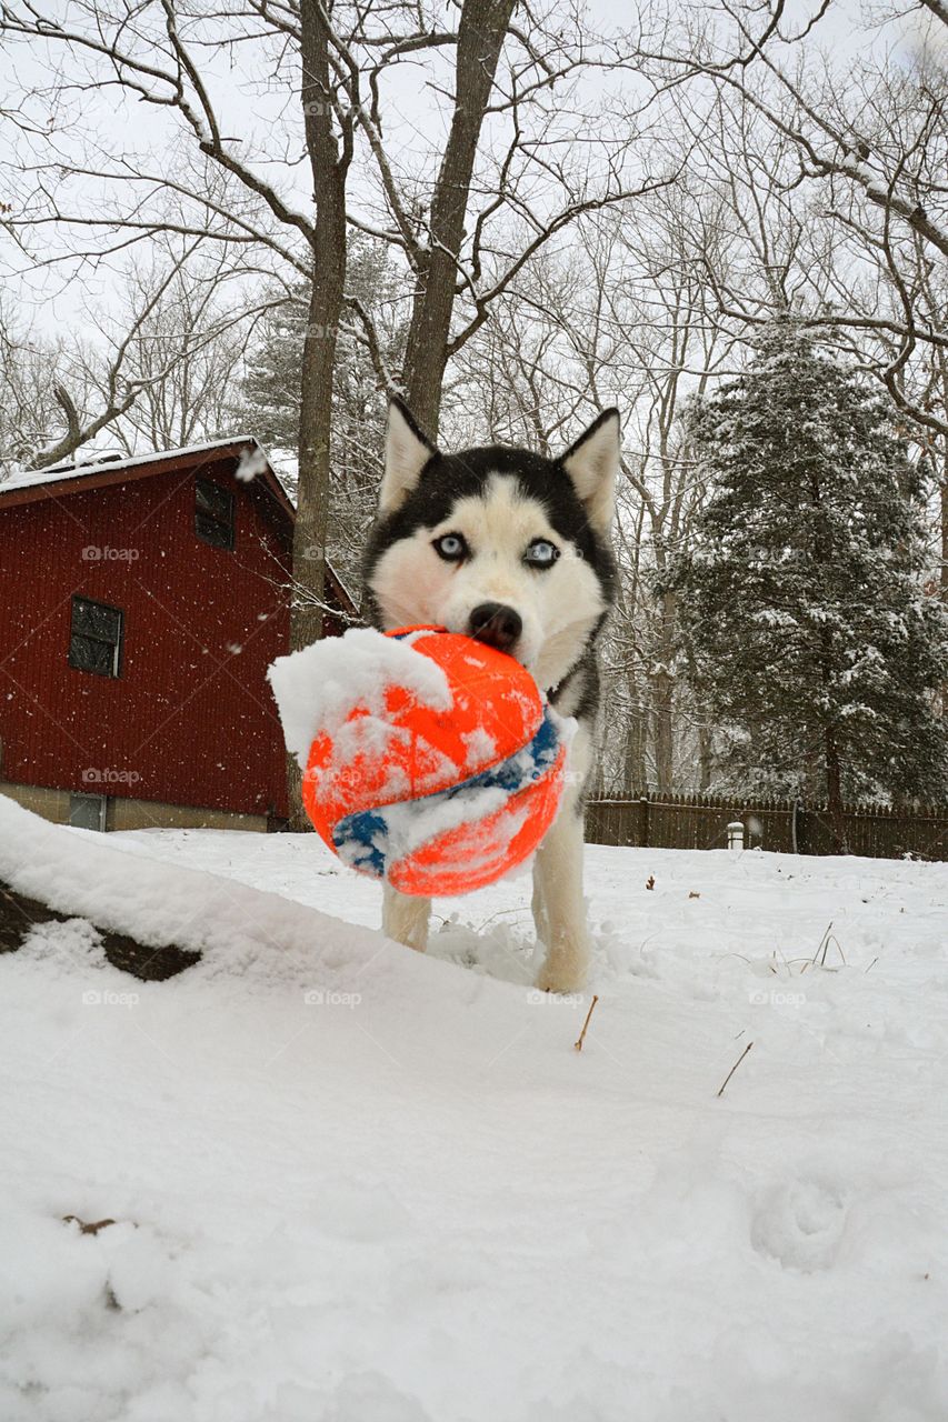
[[[366, 611], [381, 630], [437, 623], [517, 657], [575, 717], [567, 791], [534, 865], [534, 919], [547, 950], [538, 987], [582, 988], [584, 784], [594, 759], [595, 643], [613, 600], [609, 529], [619, 414], [604, 411], [558, 459], [494, 445], [441, 454], [399, 400], [389, 405], [379, 515], [366, 549]], [[427, 946], [430, 900], [386, 887], [383, 929]]]

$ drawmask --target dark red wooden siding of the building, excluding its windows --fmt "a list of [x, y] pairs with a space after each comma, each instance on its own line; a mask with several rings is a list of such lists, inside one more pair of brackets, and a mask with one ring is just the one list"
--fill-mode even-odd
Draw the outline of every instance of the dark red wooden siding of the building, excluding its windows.
[[[0, 779], [286, 813], [265, 674], [288, 648], [292, 518], [233, 468], [208, 452], [14, 506], [0, 489]], [[235, 493], [233, 552], [195, 536], [198, 472]], [[68, 665], [74, 593], [122, 609], [120, 677]]]

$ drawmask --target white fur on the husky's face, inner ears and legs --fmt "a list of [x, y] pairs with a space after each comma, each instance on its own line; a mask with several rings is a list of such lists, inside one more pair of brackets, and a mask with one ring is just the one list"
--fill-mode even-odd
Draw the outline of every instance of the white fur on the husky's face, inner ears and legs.
[[[389, 411], [386, 472], [380, 510], [399, 508], [414, 489], [434, 448], [416, 434], [397, 405]], [[615, 509], [619, 465], [618, 417], [605, 419], [564, 459], [564, 468], [594, 528], [606, 535]], [[463, 565], [446, 563], [431, 543], [444, 533], [464, 536], [471, 556]], [[537, 574], [524, 563], [524, 549], [534, 539], [549, 539], [561, 557]], [[437, 528], [418, 529], [380, 556], [372, 576], [386, 629], [438, 623], [465, 633], [468, 617], [481, 603], [514, 607], [522, 633], [511, 648], [538, 685], [557, 687], [585, 650], [598, 624], [605, 599], [602, 587], [579, 550], [557, 533], [544, 508], [518, 493], [515, 478], [493, 475], [483, 495], [458, 499], [448, 519]], [[571, 715], [567, 701], [558, 711]], [[586, 981], [589, 934], [582, 897], [582, 816], [576, 802], [592, 766], [592, 727], [579, 722], [569, 748], [567, 791], [555, 823], [534, 862], [534, 920], [547, 958], [538, 985], [551, 993], [575, 993]], [[399, 943], [424, 951], [430, 900], [386, 887], [383, 930]]]

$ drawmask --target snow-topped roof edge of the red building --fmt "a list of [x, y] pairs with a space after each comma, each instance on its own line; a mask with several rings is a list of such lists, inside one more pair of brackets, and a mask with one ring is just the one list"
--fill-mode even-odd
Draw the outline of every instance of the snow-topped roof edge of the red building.
[[[104, 455], [90, 464], [57, 464], [47, 469], [27, 469], [0, 482], [0, 508], [30, 503], [33, 499], [58, 499], [65, 493], [108, 488], [112, 483], [127, 483], [130, 479], [144, 479], [158, 474], [199, 471], [202, 466], [211, 468], [231, 458], [236, 459], [233, 474], [238, 479], [248, 483], [260, 479], [289, 519], [296, 518], [293, 501], [273, 469], [266, 449], [253, 435], [232, 435], [229, 439], [211, 439], [206, 444], [159, 449], [157, 454], [137, 454], [124, 459]], [[329, 563], [326, 566], [343, 611], [357, 616], [352, 593], [339, 573]]]

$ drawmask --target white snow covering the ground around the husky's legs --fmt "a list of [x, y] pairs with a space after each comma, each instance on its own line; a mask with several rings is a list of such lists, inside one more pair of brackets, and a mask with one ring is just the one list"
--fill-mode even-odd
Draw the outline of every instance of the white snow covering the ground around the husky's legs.
[[420, 957], [315, 836], [0, 876], [205, 950], [0, 957], [4, 1422], [948, 1415], [948, 866], [591, 849], [582, 1052], [525, 879]]

